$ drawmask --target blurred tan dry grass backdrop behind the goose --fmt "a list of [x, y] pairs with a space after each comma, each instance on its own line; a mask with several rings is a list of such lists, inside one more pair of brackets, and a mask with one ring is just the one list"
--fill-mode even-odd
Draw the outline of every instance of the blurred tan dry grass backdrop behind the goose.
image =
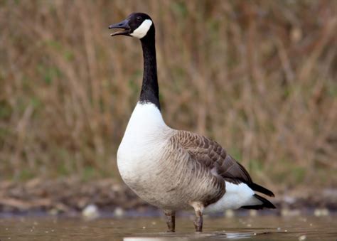
[[156, 23], [166, 123], [217, 140], [269, 188], [337, 186], [337, 1], [0, 1], [1, 180], [119, 180]]

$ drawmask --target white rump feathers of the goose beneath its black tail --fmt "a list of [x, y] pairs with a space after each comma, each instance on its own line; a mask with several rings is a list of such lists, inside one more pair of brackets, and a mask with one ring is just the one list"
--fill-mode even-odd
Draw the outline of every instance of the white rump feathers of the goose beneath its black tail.
[[262, 202], [255, 198], [254, 191], [245, 183], [226, 183], [225, 195], [216, 203], [205, 208], [205, 213], [223, 212], [226, 209], [237, 209], [247, 205], [260, 205]]

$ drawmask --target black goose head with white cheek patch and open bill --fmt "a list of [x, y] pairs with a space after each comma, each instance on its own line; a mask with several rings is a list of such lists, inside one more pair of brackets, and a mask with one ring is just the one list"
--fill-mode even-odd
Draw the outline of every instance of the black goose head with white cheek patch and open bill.
[[154, 23], [149, 15], [143, 13], [130, 14], [122, 22], [109, 26], [109, 29], [121, 28], [121, 31], [114, 32], [110, 36], [124, 35], [142, 39], [154, 34]]

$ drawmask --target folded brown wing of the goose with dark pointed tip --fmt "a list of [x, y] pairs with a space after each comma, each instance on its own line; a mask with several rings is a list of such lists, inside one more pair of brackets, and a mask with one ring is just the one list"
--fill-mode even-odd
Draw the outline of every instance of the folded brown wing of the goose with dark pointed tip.
[[231, 183], [247, 183], [255, 191], [274, 196], [272, 191], [253, 183], [245, 167], [227, 154], [225, 149], [216, 141], [186, 131], [178, 131], [177, 135], [181, 146], [188, 151], [193, 159], [208, 167], [212, 173]]

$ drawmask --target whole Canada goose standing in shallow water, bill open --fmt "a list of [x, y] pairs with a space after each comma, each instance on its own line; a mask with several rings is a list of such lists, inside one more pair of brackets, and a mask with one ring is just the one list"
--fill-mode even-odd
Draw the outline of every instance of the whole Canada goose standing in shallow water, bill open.
[[194, 208], [197, 232], [203, 213], [237, 208], [275, 208], [254, 191], [274, 196], [253, 183], [246, 169], [217, 142], [205, 136], [168, 127], [161, 116], [156, 70], [154, 22], [134, 13], [109, 28], [111, 36], [139, 38], [144, 75], [141, 94], [117, 151], [117, 166], [127, 186], [164, 210], [169, 231], [175, 230], [176, 210]]

